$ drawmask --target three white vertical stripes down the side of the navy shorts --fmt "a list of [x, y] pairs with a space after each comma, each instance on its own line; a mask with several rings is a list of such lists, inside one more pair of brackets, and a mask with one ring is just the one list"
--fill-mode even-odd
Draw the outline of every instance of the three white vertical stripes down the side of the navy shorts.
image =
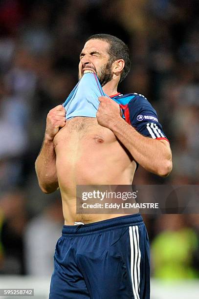
[[141, 253], [139, 249], [138, 226], [130, 226], [129, 235], [130, 235], [130, 245], [131, 245], [131, 277], [132, 277], [133, 295], [135, 299], [140, 299], [139, 284], [140, 284]]

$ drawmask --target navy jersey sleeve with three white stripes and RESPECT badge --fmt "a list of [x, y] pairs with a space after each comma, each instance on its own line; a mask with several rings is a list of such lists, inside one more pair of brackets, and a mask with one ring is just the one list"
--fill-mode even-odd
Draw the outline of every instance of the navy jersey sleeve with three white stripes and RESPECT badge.
[[153, 139], [168, 140], [157, 113], [143, 95], [136, 95], [128, 104], [130, 123], [140, 134]]

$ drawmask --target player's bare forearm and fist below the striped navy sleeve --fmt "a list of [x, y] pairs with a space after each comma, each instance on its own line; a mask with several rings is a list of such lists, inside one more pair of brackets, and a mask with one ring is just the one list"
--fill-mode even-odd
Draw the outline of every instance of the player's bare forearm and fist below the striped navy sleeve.
[[167, 176], [172, 171], [172, 153], [167, 140], [145, 137], [129, 125], [120, 115], [120, 107], [107, 97], [99, 98], [96, 113], [98, 123], [110, 128], [120, 142], [147, 171]]

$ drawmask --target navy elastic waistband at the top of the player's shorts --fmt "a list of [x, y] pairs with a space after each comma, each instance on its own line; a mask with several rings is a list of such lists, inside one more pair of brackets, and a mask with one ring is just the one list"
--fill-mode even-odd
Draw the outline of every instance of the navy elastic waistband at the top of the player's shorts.
[[118, 226], [138, 225], [143, 224], [143, 219], [140, 214], [115, 217], [98, 222], [80, 224], [80, 225], [63, 225], [62, 235], [84, 235], [97, 231], [103, 231]]

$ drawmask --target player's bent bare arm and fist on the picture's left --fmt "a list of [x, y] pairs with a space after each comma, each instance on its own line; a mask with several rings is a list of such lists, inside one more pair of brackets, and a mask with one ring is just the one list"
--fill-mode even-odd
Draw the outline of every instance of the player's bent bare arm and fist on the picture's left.
[[53, 139], [66, 124], [65, 114], [65, 108], [59, 105], [51, 109], [46, 118], [44, 142], [35, 162], [39, 186], [44, 193], [52, 193], [59, 187]]

